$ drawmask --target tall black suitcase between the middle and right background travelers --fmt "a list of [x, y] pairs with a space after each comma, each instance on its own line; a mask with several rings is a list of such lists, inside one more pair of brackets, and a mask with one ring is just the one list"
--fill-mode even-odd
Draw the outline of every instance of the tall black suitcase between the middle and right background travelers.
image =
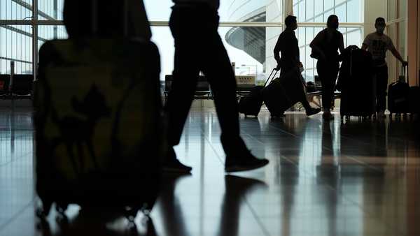
[[373, 76], [372, 56], [357, 46], [349, 46], [342, 54], [339, 71], [341, 90], [340, 115], [371, 118], [376, 112], [376, 80]]

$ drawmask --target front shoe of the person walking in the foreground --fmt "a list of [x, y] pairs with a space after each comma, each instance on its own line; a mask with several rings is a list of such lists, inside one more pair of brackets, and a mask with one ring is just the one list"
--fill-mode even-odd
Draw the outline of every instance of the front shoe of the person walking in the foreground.
[[226, 156], [225, 172], [239, 172], [255, 170], [268, 164], [267, 159], [259, 159], [251, 152], [246, 152], [243, 156]]

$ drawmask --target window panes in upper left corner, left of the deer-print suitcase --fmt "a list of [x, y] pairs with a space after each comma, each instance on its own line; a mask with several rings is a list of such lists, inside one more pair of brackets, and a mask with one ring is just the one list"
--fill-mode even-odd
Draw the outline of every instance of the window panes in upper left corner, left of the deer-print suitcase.
[[[38, 0], [38, 20], [62, 20], [64, 0]], [[0, 20], [28, 21], [32, 17], [31, 0], [1, 0]], [[66, 38], [64, 27], [38, 27], [38, 47], [52, 38]], [[32, 27], [0, 24], [0, 73], [10, 73], [10, 61], [15, 61], [15, 73], [32, 73]]]

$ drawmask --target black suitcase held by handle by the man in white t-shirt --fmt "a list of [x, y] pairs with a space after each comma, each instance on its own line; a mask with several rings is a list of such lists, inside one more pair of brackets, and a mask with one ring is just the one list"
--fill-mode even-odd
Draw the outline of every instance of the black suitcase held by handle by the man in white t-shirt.
[[[397, 82], [393, 82], [388, 86], [388, 110], [390, 117], [396, 115], [406, 115], [409, 113], [409, 84], [405, 82], [405, 67], [401, 67], [402, 76]], [[408, 78], [407, 78], [408, 79]]]

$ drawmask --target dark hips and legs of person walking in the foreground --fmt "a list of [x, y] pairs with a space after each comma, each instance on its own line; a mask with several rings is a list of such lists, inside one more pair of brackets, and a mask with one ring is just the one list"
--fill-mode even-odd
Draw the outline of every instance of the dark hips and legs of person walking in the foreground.
[[[164, 170], [184, 173], [191, 170], [178, 161], [173, 147], [179, 144], [200, 71], [207, 76], [214, 93], [226, 154], [225, 171], [253, 170], [267, 165], [268, 160], [253, 156], [240, 137], [235, 74], [218, 34], [219, 1], [174, 0], [174, 3], [169, 22], [175, 39], [174, 78], [166, 105], [169, 150]], [[195, 34], [190, 29], [195, 29]]]

